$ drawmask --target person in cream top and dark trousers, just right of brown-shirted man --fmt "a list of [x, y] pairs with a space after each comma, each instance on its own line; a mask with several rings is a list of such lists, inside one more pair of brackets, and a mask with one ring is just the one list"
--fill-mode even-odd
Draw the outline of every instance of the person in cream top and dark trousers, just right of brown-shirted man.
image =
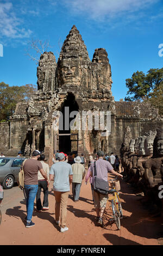
[[[49, 186], [49, 165], [45, 161], [45, 155], [40, 155], [40, 162], [43, 170], [47, 175], [47, 181], [43, 178], [40, 171], [38, 172], [38, 190], [36, 194], [36, 209], [38, 212], [41, 210], [48, 210], [48, 186]], [[43, 204], [41, 204], [41, 188], [43, 189]]]

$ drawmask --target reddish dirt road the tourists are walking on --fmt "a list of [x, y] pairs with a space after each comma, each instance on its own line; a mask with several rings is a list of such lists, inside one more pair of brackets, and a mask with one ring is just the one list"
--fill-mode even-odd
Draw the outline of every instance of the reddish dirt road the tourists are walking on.
[[129, 185], [121, 181], [123, 215], [121, 230], [109, 222], [111, 212], [106, 207], [105, 227], [96, 224], [96, 212], [91, 201], [91, 187], [83, 181], [80, 200], [73, 202], [68, 198], [68, 231], [60, 233], [54, 222], [55, 199], [52, 182], [49, 186], [49, 210], [38, 213], [34, 210], [35, 226], [26, 228], [26, 201], [18, 187], [4, 191], [1, 205], [2, 223], [0, 226], [0, 245], [159, 245], [157, 240], [162, 231], [161, 217], [152, 218], [135, 196]]

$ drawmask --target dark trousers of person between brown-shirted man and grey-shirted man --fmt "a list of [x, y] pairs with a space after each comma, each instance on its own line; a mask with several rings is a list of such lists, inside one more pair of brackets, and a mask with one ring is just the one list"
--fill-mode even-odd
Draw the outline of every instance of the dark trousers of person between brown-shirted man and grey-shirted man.
[[46, 180], [38, 180], [39, 186], [36, 194], [36, 208], [37, 210], [42, 209], [42, 204], [41, 204], [41, 188], [43, 188], [43, 206], [48, 207], [48, 187], [47, 187], [47, 181]]

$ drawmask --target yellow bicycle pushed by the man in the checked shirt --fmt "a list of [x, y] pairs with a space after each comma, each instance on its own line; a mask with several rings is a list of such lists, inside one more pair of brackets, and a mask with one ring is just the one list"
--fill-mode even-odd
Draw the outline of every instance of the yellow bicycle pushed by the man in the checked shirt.
[[[117, 177], [116, 179], [108, 180], [111, 186], [111, 190], [109, 190], [109, 194], [112, 194], [112, 196], [108, 198], [107, 203], [109, 204], [109, 207], [111, 206], [110, 209], [112, 208], [112, 214], [114, 217], [109, 221], [115, 221], [117, 229], [120, 230], [121, 229], [120, 219], [123, 218], [123, 212], [122, 212], [121, 200], [119, 197], [120, 193], [116, 190], [116, 184], [114, 182], [115, 180], [117, 180]], [[109, 202], [110, 200], [111, 200], [111, 205]]]

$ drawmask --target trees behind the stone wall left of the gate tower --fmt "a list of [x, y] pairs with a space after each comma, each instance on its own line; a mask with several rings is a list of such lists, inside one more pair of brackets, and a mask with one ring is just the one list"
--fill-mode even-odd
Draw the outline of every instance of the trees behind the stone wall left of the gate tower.
[[8, 121], [10, 115], [15, 111], [16, 104], [20, 101], [28, 101], [36, 92], [36, 86], [26, 84], [25, 86], [9, 86], [0, 83], [0, 121]]

